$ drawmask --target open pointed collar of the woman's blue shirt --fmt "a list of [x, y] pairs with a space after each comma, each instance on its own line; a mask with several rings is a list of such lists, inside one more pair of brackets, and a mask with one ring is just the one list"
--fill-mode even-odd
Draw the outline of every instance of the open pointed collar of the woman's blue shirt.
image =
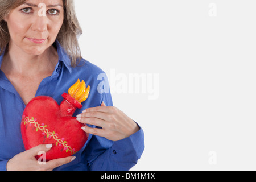
[[[67, 55], [65, 49], [60, 45], [59, 41], [56, 39], [55, 41], [55, 45], [57, 48], [57, 53], [59, 56], [59, 61], [63, 61], [65, 67], [68, 69], [68, 71], [70, 73], [72, 73], [72, 67], [71, 67], [71, 63], [70, 63], [70, 58]], [[3, 56], [5, 55], [5, 51], [3, 51], [2, 55], [0, 55], [0, 68], [2, 65], [2, 61], [3, 61]]]

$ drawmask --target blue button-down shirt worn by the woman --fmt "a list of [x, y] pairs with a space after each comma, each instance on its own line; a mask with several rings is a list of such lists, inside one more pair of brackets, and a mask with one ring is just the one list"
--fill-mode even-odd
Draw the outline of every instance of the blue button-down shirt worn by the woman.
[[[90, 94], [82, 103], [83, 107], [77, 109], [74, 116], [86, 108], [100, 106], [102, 101], [107, 106], [113, 106], [105, 72], [84, 59], [76, 68], [71, 67], [63, 47], [57, 40], [55, 44], [59, 62], [52, 76], [44, 78], [40, 83], [36, 96], [50, 96], [60, 104], [63, 100], [61, 94], [67, 93], [68, 88], [79, 78], [90, 85]], [[3, 55], [4, 53], [0, 56], [0, 67]], [[25, 107], [14, 86], [0, 70], [0, 170], [6, 170], [8, 160], [24, 151], [20, 122]], [[137, 163], [143, 150], [142, 129], [117, 142], [89, 134], [85, 146], [75, 154], [76, 159], [55, 170], [129, 170]]]

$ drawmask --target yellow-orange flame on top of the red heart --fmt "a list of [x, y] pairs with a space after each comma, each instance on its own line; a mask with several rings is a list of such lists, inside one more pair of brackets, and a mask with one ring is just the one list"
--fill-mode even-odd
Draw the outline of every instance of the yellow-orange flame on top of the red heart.
[[71, 88], [68, 89], [68, 94], [80, 103], [84, 102], [88, 98], [89, 92], [90, 85], [88, 85], [86, 88], [84, 80], [80, 82], [79, 79], [74, 85], [71, 86]]

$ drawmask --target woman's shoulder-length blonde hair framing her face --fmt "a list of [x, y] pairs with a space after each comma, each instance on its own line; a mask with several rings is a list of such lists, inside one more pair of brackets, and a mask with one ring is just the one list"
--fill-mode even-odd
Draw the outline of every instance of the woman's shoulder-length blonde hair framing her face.
[[[11, 10], [22, 5], [26, 0], [0, 0], [0, 55], [9, 44], [10, 34], [4, 18]], [[72, 67], [76, 67], [82, 59], [78, 43], [78, 36], [82, 34], [82, 29], [77, 20], [73, 0], [63, 0], [64, 21], [60, 28], [57, 40], [69, 55]]]

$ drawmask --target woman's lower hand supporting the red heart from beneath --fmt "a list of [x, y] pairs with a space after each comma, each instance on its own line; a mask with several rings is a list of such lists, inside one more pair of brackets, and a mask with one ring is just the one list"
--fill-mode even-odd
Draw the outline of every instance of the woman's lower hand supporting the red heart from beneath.
[[51, 150], [51, 148], [52, 144], [41, 144], [15, 155], [7, 162], [7, 171], [52, 171], [54, 168], [67, 164], [76, 158], [75, 156], [69, 156], [67, 158], [54, 159], [44, 164], [39, 164], [35, 156], [37, 156], [40, 151], [47, 152]]

